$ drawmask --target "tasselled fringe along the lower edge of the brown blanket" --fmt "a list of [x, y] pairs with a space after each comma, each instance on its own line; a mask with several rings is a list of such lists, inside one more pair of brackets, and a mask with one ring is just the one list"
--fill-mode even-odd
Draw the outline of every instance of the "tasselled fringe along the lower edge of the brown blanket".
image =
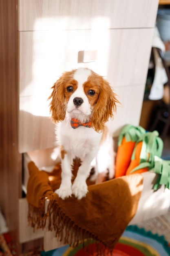
[[[45, 201], [46, 198], [49, 200], [47, 211], [45, 212]], [[112, 255], [113, 248], [108, 249], [106, 245], [102, 243], [96, 236], [86, 229], [78, 227], [73, 220], [71, 220], [65, 213], [60, 209], [53, 194], [43, 197], [40, 200], [41, 207], [37, 208], [29, 204], [28, 221], [29, 225], [35, 229], [44, 229], [48, 218], [48, 229], [49, 231], [55, 231], [55, 236], [64, 241], [64, 244], [69, 244], [72, 247], [77, 247], [79, 243], [83, 243], [83, 247], [91, 250], [94, 247], [90, 247], [91, 243], [96, 243], [97, 255]], [[92, 242], [93, 241], [93, 242]], [[107, 253], [106, 250], [107, 249]], [[89, 249], [88, 249], [89, 250]], [[103, 254], [105, 252], [105, 254]]]

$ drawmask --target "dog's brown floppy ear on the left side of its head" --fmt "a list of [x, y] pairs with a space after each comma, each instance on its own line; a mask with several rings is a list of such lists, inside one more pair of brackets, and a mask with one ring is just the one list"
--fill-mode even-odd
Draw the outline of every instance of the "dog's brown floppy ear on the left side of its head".
[[[51, 99], [50, 112], [54, 123], [63, 121], [66, 115], [64, 105], [64, 87], [62, 84], [62, 77], [57, 80], [51, 89], [53, 89], [49, 99]], [[48, 99], [48, 100], [49, 100]]]

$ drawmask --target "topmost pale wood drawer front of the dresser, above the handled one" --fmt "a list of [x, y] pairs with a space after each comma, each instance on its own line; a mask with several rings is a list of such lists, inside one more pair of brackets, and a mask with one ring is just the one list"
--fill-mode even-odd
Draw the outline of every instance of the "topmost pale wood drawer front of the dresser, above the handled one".
[[19, 0], [19, 30], [154, 27], [158, 0]]

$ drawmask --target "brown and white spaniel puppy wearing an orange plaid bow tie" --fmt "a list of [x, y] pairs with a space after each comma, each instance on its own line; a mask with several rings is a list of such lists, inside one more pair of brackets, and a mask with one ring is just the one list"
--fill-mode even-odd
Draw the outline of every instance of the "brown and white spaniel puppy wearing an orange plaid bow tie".
[[[113, 119], [119, 101], [108, 81], [88, 68], [64, 72], [51, 89], [49, 106], [52, 121], [57, 123], [62, 165], [62, 182], [55, 193], [63, 200], [72, 194], [80, 200], [88, 192], [86, 179], [100, 148], [105, 124]], [[82, 164], [72, 185], [75, 157]]]

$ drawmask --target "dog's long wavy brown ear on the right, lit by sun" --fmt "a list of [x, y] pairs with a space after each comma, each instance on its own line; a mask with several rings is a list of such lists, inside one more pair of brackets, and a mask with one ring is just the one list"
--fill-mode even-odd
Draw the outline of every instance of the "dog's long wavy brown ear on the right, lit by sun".
[[104, 130], [105, 123], [108, 121], [109, 117], [114, 117], [114, 112], [116, 112], [117, 109], [116, 103], [119, 103], [116, 97], [117, 95], [113, 92], [108, 81], [102, 78], [99, 99], [91, 118], [92, 127], [94, 127], [97, 132]]

